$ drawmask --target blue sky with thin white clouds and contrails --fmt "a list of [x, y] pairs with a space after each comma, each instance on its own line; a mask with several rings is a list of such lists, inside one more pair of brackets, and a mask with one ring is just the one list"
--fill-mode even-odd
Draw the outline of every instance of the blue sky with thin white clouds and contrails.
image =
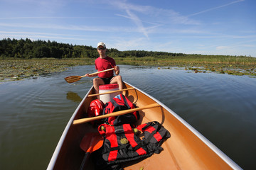
[[0, 39], [256, 57], [255, 0], [0, 0]]

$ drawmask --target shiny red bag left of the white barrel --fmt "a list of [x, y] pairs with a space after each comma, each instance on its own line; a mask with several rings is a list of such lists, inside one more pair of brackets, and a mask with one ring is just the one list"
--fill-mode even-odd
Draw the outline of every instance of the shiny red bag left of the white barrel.
[[[87, 110], [88, 118], [102, 115], [103, 108], [104, 108], [104, 103], [99, 99], [92, 101]], [[94, 124], [94, 122], [92, 122], [92, 124]]]

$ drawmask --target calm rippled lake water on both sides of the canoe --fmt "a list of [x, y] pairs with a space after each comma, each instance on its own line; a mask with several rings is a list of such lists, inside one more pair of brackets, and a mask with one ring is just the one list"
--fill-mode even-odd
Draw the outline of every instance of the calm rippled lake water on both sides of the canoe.
[[[124, 81], [164, 103], [242, 169], [256, 169], [256, 79], [166, 67], [120, 66]], [[0, 84], [0, 169], [46, 169], [65, 125], [92, 86], [65, 72]]]

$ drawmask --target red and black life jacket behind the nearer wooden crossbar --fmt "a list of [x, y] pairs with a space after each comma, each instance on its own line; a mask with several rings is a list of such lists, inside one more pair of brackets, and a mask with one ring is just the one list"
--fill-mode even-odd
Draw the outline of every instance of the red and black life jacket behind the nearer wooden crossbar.
[[[123, 94], [119, 94], [105, 104], [103, 115], [113, 113], [116, 111], [124, 111], [127, 109], [136, 108], [136, 106], [128, 100]], [[139, 120], [139, 112], [119, 115], [117, 117], [107, 118], [106, 122], [110, 125], [134, 124]]]

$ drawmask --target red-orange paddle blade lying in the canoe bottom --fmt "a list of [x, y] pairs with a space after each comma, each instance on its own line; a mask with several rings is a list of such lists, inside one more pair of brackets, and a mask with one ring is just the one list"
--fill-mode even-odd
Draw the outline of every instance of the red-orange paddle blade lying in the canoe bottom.
[[103, 145], [102, 136], [98, 132], [91, 132], [85, 134], [80, 142], [80, 148], [85, 152], [94, 152], [97, 149], [100, 149]]

